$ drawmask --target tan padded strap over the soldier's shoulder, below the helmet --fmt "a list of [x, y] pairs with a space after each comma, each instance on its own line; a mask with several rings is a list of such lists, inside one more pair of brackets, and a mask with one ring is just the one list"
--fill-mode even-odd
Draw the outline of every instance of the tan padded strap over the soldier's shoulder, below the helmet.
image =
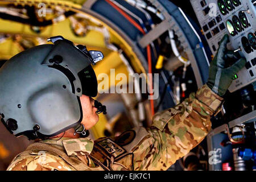
[[54, 152], [55, 154], [59, 155], [61, 159], [65, 160], [65, 162], [67, 162], [73, 168], [75, 168], [77, 171], [91, 171], [91, 169], [88, 166], [86, 166], [86, 164], [82, 163], [80, 160], [71, 159], [67, 154], [65, 154], [65, 152], [59, 150], [58, 148], [52, 147], [49, 144], [35, 142], [27, 147], [26, 151], [30, 150], [43, 150]]

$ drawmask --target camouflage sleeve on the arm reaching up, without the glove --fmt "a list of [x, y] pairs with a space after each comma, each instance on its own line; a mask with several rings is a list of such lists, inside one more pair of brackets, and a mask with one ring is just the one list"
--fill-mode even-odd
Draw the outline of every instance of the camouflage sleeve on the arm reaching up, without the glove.
[[222, 98], [204, 85], [174, 108], [156, 113], [152, 127], [133, 151], [134, 170], [166, 170], [208, 134]]

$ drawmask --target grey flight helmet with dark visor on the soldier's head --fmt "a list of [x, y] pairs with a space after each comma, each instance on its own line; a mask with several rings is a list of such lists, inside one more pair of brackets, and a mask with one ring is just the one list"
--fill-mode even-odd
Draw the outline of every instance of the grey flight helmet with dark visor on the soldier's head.
[[0, 69], [0, 115], [17, 137], [52, 137], [82, 120], [80, 97], [97, 96], [97, 78], [90, 64], [103, 59], [62, 36], [18, 53]]

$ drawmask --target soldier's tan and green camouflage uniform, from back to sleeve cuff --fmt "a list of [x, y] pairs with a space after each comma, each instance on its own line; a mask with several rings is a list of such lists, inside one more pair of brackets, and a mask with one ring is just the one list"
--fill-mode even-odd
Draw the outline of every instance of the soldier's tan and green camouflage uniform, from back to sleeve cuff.
[[[208, 134], [210, 117], [222, 98], [207, 85], [174, 108], [156, 113], [152, 127], [129, 130], [117, 138], [44, 140], [84, 170], [166, 170]], [[56, 152], [27, 150], [7, 170], [76, 170]]]

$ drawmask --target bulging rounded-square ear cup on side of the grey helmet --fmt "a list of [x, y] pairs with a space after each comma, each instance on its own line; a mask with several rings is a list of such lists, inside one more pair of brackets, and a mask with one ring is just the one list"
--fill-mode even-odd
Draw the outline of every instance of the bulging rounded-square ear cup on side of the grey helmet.
[[49, 85], [34, 93], [28, 98], [27, 109], [33, 125], [38, 125], [38, 132], [44, 135], [59, 132], [81, 117], [77, 97], [61, 84]]

